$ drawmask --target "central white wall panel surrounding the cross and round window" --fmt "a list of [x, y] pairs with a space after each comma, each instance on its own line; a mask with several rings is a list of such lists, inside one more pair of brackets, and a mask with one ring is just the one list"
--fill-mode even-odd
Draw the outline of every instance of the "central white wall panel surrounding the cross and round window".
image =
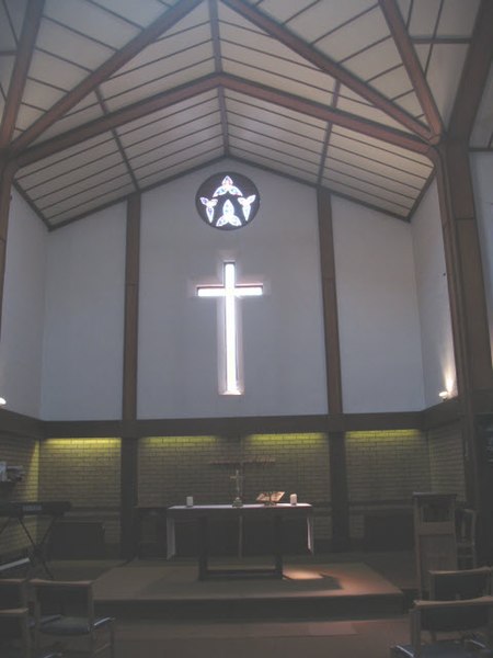
[[[139, 300], [138, 413], [141, 418], [282, 416], [326, 412], [317, 198], [312, 189], [233, 163], [261, 195], [256, 218], [239, 230], [207, 226], [198, 185], [226, 162], [144, 195]], [[220, 306], [199, 284], [262, 283], [242, 299], [241, 396], [219, 394]]]

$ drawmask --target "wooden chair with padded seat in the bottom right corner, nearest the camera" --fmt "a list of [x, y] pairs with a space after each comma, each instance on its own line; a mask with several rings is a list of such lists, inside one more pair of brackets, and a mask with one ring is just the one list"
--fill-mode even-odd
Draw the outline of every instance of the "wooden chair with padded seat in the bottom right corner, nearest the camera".
[[[435, 639], [425, 642], [425, 633]], [[410, 635], [409, 645], [390, 648], [391, 658], [491, 658], [493, 597], [415, 601], [410, 611]], [[443, 637], [437, 639], [439, 635]]]

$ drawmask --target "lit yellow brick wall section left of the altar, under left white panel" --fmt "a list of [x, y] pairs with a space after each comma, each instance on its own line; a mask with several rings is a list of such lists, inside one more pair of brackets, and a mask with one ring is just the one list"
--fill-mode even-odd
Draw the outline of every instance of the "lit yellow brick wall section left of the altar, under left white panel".
[[119, 542], [119, 439], [49, 439], [39, 446], [39, 497], [69, 500], [68, 520], [98, 521]]

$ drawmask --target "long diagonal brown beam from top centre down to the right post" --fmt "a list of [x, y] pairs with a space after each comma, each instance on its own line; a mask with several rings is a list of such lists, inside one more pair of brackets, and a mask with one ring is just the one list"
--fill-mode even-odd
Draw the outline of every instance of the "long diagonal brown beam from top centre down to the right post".
[[351, 71], [342, 67], [330, 57], [319, 53], [296, 34], [289, 32], [283, 25], [276, 23], [266, 14], [260, 12], [255, 7], [245, 2], [245, 0], [222, 0], [230, 9], [241, 16], [276, 38], [289, 49], [294, 50], [307, 61], [316, 65], [321, 71], [332, 76], [345, 87], [352, 89], [355, 93], [366, 99], [378, 110], [385, 112], [388, 116], [400, 123], [402, 126], [419, 135], [422, 139], [429, 140], [433, 134], [429, 128], [408, 114], [402, 107], [392, 103], [383, 94], [369, 84], [354, 76]]

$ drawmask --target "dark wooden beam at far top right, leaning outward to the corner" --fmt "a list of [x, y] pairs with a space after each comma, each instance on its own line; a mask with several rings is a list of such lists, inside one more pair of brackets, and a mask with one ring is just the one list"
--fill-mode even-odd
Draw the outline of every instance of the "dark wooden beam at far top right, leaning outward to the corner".
[[469, 143], [492, 63], [493, 2], [482, 0], [450, 115], [450, 139]]

